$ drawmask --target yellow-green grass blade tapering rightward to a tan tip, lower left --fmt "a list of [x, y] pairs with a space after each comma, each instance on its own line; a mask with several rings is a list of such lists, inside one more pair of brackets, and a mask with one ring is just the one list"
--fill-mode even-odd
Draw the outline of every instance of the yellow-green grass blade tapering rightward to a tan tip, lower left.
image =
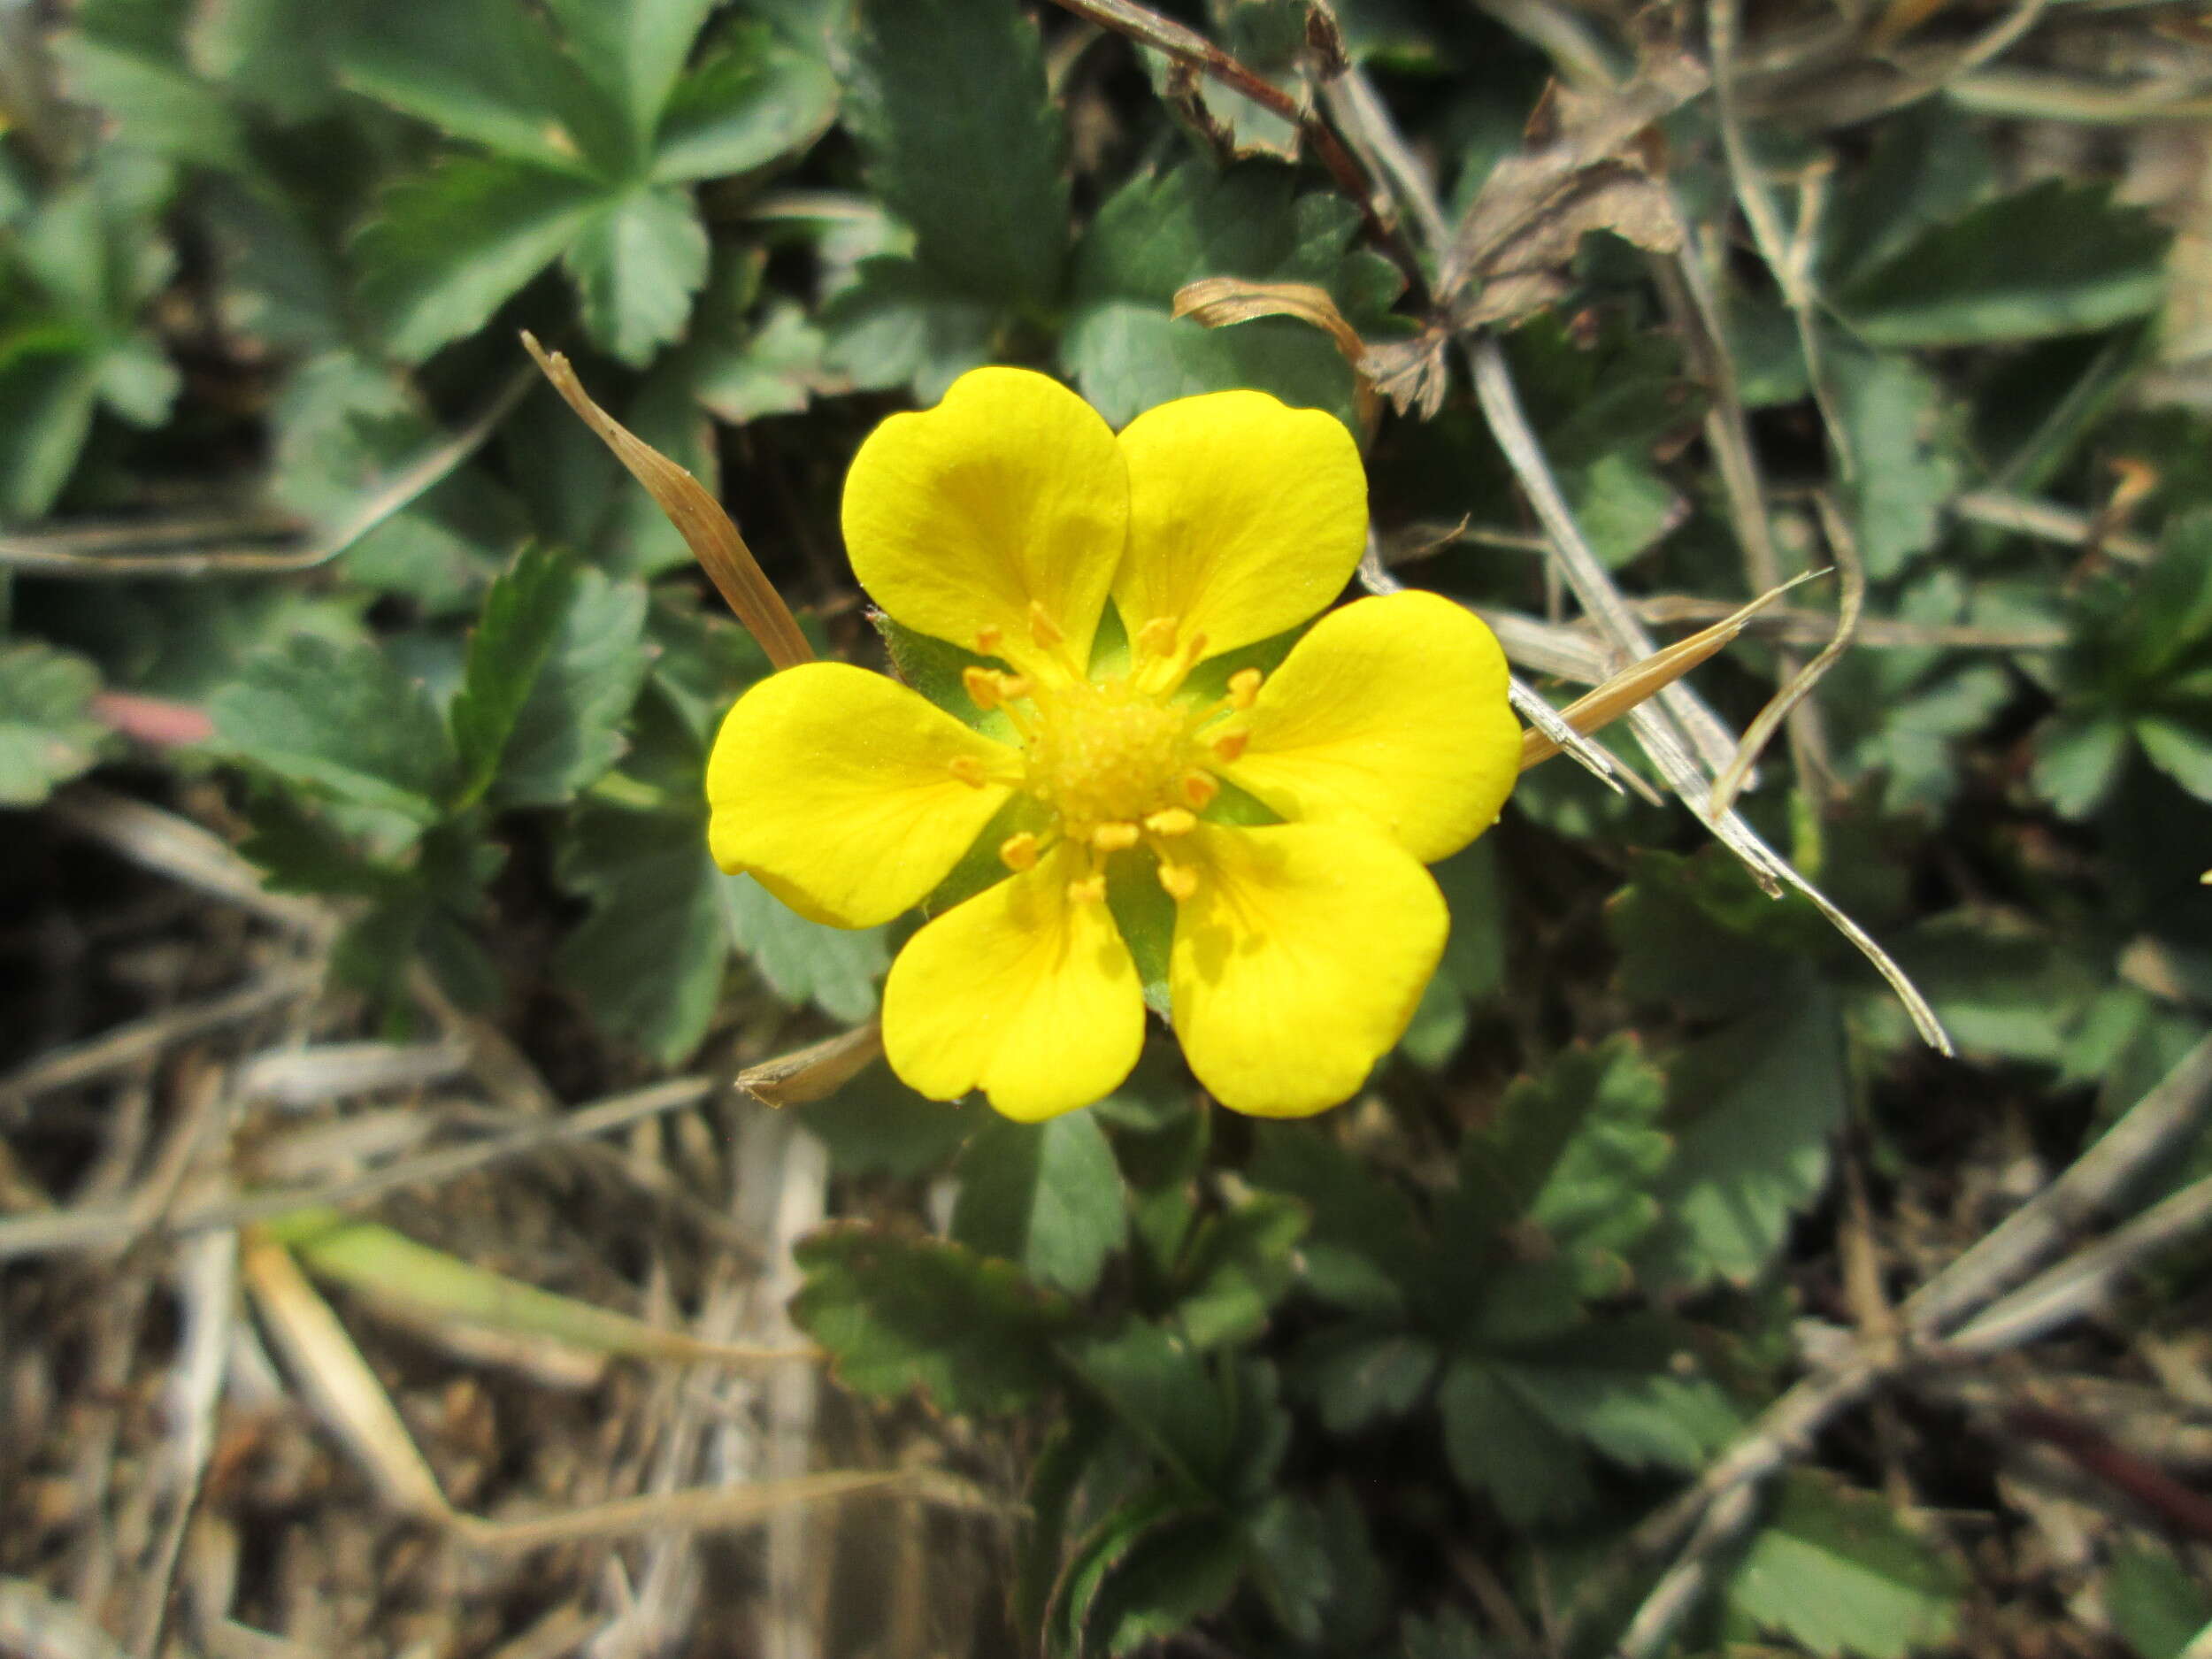
[[595, 1354], [650, 1360], [765, 1365], [821, 1358], [807, 1345], [703, 1343], [641, 1318], [524, 1285], [507, 1274], [431, 1250], [376, 1221], [305, 1210], [268, 1228], [316, 1279], [394, 1303], [422, 1321], [458, 1321], [515, 1336], [551, 1336]]

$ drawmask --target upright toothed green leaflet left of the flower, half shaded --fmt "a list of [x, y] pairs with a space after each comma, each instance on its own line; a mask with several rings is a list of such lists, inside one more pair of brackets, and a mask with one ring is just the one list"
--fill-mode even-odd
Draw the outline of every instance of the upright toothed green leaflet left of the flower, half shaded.
[[493, 805], [560, 805], [622, 759], [624, 717], [653, 661], [644, 633], [641, 582], [577, 571], [560, 633], [500, 757]]

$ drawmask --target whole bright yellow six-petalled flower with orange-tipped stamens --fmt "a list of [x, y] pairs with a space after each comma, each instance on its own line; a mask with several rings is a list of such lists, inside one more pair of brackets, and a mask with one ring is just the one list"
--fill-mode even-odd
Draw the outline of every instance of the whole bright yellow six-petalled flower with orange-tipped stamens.
[[964, 675], [982, 719], [849, 664], [763, 679], [714, 739], [717, 863], [872, 927], [991, 830], [1002, 878], [883, 989], [891, 1068], [931, 1099], [982, 1088], [1035, 1121], [1113, 1093], [1144, 1042], [1117, 914], [1164, 889], [1199, 1082], [1241, 1113], [1334, 1106], [1442, 953], [1422, 865], [1482, 834], [1520, 770], [1504, 655], [1436, 595], [1347, 604], [1265, 675], [1210, 664], [1329, 604], [1365, 535], [1327, 414], [1217, 392], [1117, 438], [1042, 374], [964, 374], [860, 447], [845, 544], [891, 619], [991, 659]]

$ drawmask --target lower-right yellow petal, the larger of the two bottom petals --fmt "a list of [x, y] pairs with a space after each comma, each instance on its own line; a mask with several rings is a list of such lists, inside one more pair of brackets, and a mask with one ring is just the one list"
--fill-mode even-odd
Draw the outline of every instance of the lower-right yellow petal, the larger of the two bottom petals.
[[1168, 989], [1199, 1082], [1230, 1110], [1347, 1099], [1405, 1035], [1449, 916], [1429, 872], [1347, 823], [1199, 825]]

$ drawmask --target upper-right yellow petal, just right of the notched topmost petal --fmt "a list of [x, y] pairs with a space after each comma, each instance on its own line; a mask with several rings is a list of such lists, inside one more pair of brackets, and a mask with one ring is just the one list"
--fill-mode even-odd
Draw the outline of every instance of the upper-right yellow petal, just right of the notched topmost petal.
[[[1128, 555], [1115, 604], [1139, 653], [1146, 624], [1212, 657], [1296, 628], [1334, 599], [1367, 544], [1367, 473], [1336, 416], [1265, 392], [1210, 392], [1148, 409], [1121, 431]], [[1164, 633], [1164, 630], [1161, 630]]]

